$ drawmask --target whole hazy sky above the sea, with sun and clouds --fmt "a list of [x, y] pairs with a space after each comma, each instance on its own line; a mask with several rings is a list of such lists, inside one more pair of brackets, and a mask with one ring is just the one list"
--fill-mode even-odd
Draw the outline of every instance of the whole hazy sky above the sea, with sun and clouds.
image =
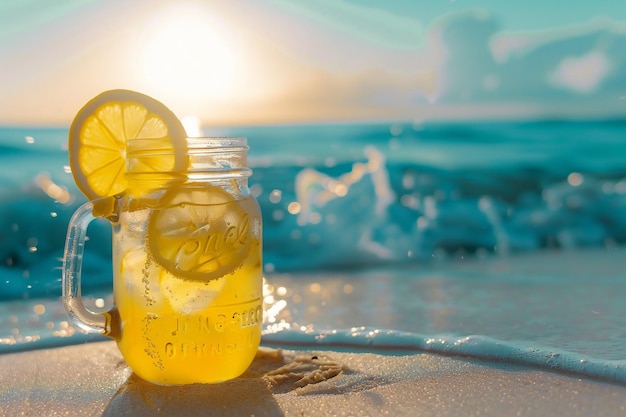
[[0, 2], [0, 125], [115, 88], [205, 125], [623, 117], [626, 4]]

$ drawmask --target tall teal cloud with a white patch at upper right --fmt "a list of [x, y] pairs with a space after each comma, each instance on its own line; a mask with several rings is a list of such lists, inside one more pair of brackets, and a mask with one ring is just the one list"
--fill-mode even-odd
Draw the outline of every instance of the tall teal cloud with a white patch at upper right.
[[480, 11], [448, 15], [432, 29], [445, 51], [439, 103], [604, 100], [626, 92], [625, 24], [596, 21], [537, 34], [498, 32]]

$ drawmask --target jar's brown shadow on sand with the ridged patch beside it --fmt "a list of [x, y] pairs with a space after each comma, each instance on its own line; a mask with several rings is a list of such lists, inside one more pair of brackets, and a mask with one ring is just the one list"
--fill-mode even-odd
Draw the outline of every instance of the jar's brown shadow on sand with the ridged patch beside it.
[[283, 416], [276, 394], [315, 385], [343, 371], [324, 356], [285, 356], [281, 350], [259, 349], [246, 373], [219, 384], [160, 386], [131, 374], [102, 416]]

